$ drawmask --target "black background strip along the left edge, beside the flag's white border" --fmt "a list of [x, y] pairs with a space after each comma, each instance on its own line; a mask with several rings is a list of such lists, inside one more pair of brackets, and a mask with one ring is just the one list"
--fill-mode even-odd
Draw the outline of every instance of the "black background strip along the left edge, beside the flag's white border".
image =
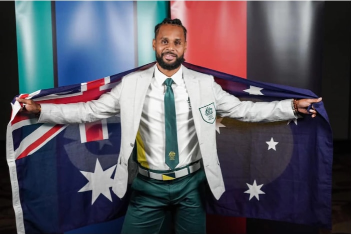
[[10, 120], [12, 98], [18, 94], [16, 22], [14, 1], [0, 1], [0, 188], [1, 188], [1, 234], [15, 234], [16, 223], [12, 209], [12, 195], [8, 166], [6, 163], [6, 128]]

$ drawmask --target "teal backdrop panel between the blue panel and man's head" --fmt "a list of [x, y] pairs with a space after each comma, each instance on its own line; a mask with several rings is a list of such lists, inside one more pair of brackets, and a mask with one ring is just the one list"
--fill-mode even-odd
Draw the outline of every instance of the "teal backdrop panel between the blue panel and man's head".
[[168, 17], [169, 1], [137, 1], [138, 66], [155, 60], [154, 26]]

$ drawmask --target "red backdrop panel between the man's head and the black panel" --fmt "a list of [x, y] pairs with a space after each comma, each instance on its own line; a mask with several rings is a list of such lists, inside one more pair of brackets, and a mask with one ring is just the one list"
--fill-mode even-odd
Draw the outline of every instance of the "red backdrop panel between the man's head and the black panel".
[[[187, 62], [246, 78], [246, 1], [170, 1], [187, 29]], [[207, 215], [208, 234], [245, 234], [246, 218]]]

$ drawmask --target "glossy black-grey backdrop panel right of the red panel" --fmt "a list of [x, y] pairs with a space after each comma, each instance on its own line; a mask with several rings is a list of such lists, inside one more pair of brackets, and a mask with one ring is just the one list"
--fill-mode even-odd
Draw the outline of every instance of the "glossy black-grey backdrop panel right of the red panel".
[[320, 95], [323, 1], [247, 1], [247, 78]]

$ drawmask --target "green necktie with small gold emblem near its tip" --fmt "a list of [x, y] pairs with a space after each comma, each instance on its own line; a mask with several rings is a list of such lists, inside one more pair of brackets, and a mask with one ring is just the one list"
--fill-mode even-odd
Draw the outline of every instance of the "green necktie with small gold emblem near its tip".
[[179, 163], [179, 151], [177, 148], [176, 115], [174, 93], [171, 89], [173, 79], [164, 81], [166, 90], [164, 94], [164, 120], [165, 120], [165, 163], [172, 170]]

